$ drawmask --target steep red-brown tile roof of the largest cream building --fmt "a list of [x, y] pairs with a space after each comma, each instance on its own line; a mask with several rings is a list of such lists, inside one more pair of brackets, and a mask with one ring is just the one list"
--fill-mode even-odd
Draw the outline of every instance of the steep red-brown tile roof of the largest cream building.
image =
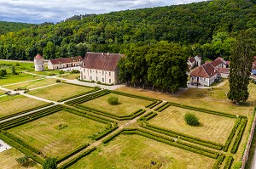
[[121, 54], [109, 53], [90, 53], [87, 52], [84, 57], [84, 68], [96, 70], [114, 71], [117, 68]]

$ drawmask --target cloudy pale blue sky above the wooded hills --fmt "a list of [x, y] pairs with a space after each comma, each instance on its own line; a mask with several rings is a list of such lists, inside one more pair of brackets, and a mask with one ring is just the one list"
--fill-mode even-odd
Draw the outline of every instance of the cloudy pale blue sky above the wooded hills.
[[196, 3], [206, 0], [0, 0], [0, 20], [40, 24], [73, 15]]

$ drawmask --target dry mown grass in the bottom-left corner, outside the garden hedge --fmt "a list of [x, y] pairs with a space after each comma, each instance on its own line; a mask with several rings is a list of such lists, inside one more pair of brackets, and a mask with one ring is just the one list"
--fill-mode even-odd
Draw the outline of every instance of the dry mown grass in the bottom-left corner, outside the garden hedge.
[[23, 157], [24, 155], [20, 153], [17, 149], [8, 149], [0, 153], [0, 167], [1, 168], [15, 168], [15, 169], [39, 169], [39, 166], [34, 161], [29, 161], [28, 166], [21, 166], [15, 159]]

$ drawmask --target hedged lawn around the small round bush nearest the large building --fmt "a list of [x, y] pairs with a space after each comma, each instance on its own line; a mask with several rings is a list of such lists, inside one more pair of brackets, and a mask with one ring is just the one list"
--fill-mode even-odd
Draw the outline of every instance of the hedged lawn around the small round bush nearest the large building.
[[[108, 104], [108, 98], [112, 96], [118, 97], [119, 104]], [[152, 102], [148, 100], [134, 99], [119, 94], [110, 93], [100, 98], [92, 99], [88, 102], [83, 103], [82, 105], [85, 105], [96, 110], [107, 111], [114, 115], [130, 115], [136, 110], [145, 109], [145, 105], [148, 105], [150, 103]]]

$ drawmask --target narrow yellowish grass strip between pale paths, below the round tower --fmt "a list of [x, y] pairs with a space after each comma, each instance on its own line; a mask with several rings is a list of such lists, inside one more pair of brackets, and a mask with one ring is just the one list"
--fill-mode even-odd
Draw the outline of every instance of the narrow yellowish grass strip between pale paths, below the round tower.
[[33, 82], [24, 82], [20, 84], [15, 84], [15, 85], [10, 85], [7, 86], [6, 88], [9, 88], [11, 90], [17, 89], [17, 88], [26, 88], [26, 89], [32, 89], [35, 87], [44, 87], [50, 84], [55, 84], [56, 79], [51, 79], [51, 78], [46, 78], [46, 79], [38, 79], [38, 81], [33, 81]]

